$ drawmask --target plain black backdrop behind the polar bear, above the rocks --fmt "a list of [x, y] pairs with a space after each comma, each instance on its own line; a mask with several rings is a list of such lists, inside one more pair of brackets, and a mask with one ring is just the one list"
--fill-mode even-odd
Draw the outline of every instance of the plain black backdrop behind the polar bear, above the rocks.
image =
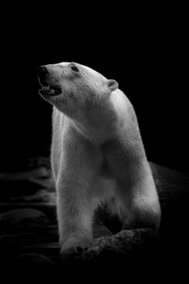
[[51, 105], [38, 94], [36, 68], [65, 61], [117, 80], [136, 110], [148, 159], [189, 173], [185, 17], [176, 9], [130, 17], [111, 10], [106, 18], [64, 11], [52, 19], [36, 8], [5, 20], [1, 171], [49, 155]]

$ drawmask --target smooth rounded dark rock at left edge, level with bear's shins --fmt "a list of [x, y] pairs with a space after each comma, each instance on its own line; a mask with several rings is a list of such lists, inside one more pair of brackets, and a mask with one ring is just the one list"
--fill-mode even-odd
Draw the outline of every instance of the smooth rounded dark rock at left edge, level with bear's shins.
[[48, 223], [46, 215], [36, 209], [13, 209], [0, 214], [1, 229], [34, 228]]

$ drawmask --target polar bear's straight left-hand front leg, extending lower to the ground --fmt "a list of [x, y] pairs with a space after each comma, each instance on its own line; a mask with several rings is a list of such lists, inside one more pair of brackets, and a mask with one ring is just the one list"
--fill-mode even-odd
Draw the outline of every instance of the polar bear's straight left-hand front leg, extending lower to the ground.
[[57, 218], [61, 254], [79, 253], [93, 242], [93, 212], [89, 189], [68, 172], [57, 180]]

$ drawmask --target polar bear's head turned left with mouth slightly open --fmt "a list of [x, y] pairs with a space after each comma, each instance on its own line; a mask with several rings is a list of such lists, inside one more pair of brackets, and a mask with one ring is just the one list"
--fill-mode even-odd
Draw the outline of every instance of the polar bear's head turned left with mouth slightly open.
[[115, 80], [73, 62], [40, 66], [37, 71], [41, 96], [73, 119], [103, 111], [109, 95], [118, 87]]

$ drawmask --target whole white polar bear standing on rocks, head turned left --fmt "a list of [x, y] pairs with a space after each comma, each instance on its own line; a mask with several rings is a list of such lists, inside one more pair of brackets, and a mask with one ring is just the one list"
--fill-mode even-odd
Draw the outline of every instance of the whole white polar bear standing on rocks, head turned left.
[[93, 243], [93, 213], [107, 202], [122, 229], [152, 227], [159, 199], [134, 108], [89, 67], [62, 62], [38, 68], [41, 96], [53, 105], [51, 164], [61, 254]]

